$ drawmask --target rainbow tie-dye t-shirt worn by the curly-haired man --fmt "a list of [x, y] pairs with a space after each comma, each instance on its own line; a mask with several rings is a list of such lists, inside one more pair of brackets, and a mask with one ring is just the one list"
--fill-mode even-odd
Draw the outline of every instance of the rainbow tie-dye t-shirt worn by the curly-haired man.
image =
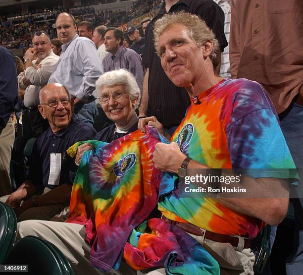
[[[261, 174], [255, 177], [293, 177], [287, 169], [295, 165], [278, 116], [258, 83], [224, 79], [198, 98], [201, 103], [192, 101], [171, 138], [185, 155], [210, 168], [258, 168]], [[249, 238], [264, 226], [261, 220], [204, 198], [203, 193], [200, 198], [197, 193], [185, 198], [184, 188], [174, 186], [176, 178], [164, 177], [160, 185], [158, 209], [167, 218]]]

